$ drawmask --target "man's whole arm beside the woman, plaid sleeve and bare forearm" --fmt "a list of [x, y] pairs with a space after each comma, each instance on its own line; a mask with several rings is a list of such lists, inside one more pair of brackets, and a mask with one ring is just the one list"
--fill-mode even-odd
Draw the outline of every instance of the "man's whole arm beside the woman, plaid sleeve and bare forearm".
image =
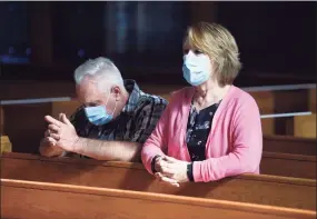
[[151, 135], [167, 101], [160, 98], [151, 99], [142, 104], [141, 113], [136, 120], [136, 130], [131, 141], [103, 141], [88, 138], [79, 138], [75, 143], [73, 152], [95, 158], [97, 160], [141, 161], [143, 142]]

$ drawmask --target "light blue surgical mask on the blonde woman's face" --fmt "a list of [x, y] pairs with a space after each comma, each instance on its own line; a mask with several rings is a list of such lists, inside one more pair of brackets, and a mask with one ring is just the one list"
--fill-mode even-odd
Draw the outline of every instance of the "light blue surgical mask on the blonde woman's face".
[[211, 63], [207, 54], [196, 54], [191, 50], [184, 54], [182, 76], [191, 86], [206, 82], [211, 73]]

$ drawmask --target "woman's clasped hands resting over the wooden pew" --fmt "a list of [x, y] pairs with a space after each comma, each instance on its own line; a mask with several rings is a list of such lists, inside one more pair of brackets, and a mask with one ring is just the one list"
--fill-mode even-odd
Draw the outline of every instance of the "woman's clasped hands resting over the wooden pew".
[[155, 176], [161, 181], [179, 187], [179, 182], [189, 181], [187, 177], [188, 165], [187, 161], [165, 156], [156, 160], [155, 168], [157, 172]]

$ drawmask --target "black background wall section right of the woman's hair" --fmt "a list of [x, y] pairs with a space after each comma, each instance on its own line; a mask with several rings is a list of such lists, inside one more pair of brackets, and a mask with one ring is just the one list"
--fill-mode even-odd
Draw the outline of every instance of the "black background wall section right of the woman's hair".
[[246, 72], [316, 74], [316, 2], [218, 2]]

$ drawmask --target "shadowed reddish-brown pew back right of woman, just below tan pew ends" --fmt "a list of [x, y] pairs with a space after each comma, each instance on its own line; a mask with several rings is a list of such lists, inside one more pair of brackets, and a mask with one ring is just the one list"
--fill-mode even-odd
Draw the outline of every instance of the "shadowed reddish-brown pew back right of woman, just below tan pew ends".
[[291, 136], [264, 136], [264, 151], [316, 156], [316, 139]]

